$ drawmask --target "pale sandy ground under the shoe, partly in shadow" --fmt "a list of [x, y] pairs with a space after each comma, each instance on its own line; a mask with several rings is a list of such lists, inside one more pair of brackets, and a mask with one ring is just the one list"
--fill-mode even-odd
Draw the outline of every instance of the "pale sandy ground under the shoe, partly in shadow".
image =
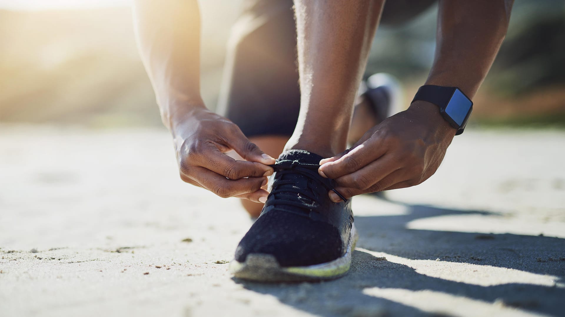
[[354, 200], [325, 283], [227, 271], [251, 221], [182, 183], [163, 130], [0, 126], [1, 316], [565, 316], [565, 132], [473, 131], [420, 186]]

